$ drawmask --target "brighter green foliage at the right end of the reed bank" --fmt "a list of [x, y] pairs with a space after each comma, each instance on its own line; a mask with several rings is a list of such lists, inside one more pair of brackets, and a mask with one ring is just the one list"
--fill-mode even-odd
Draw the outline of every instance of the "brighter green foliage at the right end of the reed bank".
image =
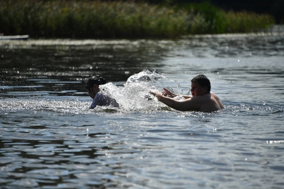
[[225, 12], [209, 2], [181, 4], [178, 9], [184, 8], [194, 15], [200, 14], [204, 24], [200, 33], [246, 33], [267, 29], [274, 23], [267, 14], [254, 12]]

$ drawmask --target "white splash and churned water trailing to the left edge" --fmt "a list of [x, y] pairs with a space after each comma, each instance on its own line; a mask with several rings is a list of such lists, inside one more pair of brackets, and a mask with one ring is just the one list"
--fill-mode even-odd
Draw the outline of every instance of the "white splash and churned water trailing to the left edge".
[[[169, 83], [172, 83], [172, 87], [169, 87]], [[98, 106], [89, 110], [91, 99], [88, 97], [78, 100], [78, 98], [62, 99], [57, 96], [48, 96], [48, 98], [3, 99], [0, 100], [0, 112], [43, 110], [56, 113], [93, 114], [99, 112], [154, 111], [167, 106], [159, 103], [149, 91], [161, 93], [163, 87], [175, 88], [177, 91], [181, 88], [179, 83], [171, 80], [165, 74], [157, 73], [155, 69], [143, 70], [130, 76], [123, 86], [116, 86], [113, 83], [100, 85], [101, 91], [116, 99], [120, 104], [119, 108]]]

